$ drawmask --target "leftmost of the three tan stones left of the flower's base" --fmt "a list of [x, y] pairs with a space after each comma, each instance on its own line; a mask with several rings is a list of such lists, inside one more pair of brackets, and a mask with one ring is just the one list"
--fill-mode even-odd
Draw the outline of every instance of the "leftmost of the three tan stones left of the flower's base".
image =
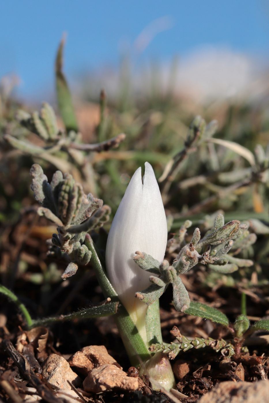
[[71, 389], [67, 382], [80, 386], [80, 377], [71, 370], [66, 359], [57, 354], [50, 354], [42, 371], [42, 376], [53, 389]]

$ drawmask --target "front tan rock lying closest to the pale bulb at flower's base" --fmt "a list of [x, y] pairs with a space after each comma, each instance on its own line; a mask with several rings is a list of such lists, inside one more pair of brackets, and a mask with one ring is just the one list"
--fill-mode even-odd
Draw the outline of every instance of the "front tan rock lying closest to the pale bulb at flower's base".
[[83, 386], [86, 392], [99, 393], [107, 389], [136, 391], [139, 383], [138, 378], [127, 376], [126, 372], [115, 365], [104, 364], [89, 372]]

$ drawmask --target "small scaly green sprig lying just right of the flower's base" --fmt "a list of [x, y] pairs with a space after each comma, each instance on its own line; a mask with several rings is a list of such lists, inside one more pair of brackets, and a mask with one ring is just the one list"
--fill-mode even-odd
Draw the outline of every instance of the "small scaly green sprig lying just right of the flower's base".
[[211, 347], [214, 351], [221, 351], [221, 354], [225, 357], [231, 357], [234, 354], [233, 345], [228, 344], [225, 340], [214, 340], [209, 337], [208, 339], [195, 339], [189, 340], [183, 336], [177, 326], [174, 326], [170, 333], [177, 339], [177, 343], [157, 343], [152, 344], [149, 350], [153, 353], [168, 353], [170, 359], [174, 359], [181, 351], [187, 351], [195, 348], [200, 349], [202, 347]]

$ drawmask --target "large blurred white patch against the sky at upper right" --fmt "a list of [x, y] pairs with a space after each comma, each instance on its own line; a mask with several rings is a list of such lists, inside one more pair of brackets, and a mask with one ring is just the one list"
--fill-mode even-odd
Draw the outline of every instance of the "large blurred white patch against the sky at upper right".
[[206, 47], [182, 60], [177, 87], [200, 101], [241, 98], [255, 79], [255, 62], [250, 57]]

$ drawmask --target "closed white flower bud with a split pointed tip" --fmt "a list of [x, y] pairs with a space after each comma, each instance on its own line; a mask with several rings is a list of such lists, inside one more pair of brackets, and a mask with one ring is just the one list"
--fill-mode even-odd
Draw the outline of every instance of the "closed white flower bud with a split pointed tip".
[[126, 189], [109, 231], [105, 256], [109, 280], [142, 333], [147, 305], [135, 293], [150, 285], [152, 273], [141, 269], [133, 257], [141, 251], [162, 262], [166, 243], [162, 197], [152, 166], [146, 162], [143, 182], [140, 167]]

